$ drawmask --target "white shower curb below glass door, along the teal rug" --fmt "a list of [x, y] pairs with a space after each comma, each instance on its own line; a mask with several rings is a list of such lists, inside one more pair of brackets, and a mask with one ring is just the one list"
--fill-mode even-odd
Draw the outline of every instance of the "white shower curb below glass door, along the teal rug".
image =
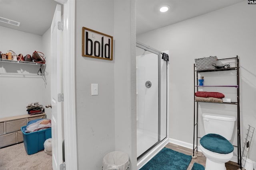
[[139, 170], [142, 166], [144, 166], [149, 160], [151, 160], [160, 150], [162, 150], [165, 145], [169, 143], [168, 138], [164, 139], [161, 143], [159, 143], [154, 149], [152, 149], [148, 154], [146, 154], [143, 158], [141, 158], [137, 162], [137, 169]]

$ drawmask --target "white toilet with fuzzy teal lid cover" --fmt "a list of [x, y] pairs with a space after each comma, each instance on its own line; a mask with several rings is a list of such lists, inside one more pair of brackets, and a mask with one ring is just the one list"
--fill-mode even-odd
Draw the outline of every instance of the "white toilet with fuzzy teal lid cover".
[[225, 163], [233, 156], [230, 143], [236, 117], [203, 113], [205, 134], [200, 139], [200, 148], [206, 157], [205, 170], [226, 170]]

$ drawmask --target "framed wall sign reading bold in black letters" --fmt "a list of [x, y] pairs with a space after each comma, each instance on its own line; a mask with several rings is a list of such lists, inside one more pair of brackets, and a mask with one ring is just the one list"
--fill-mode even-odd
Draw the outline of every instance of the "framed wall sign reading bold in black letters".
[[113, 37], [83, 27], [82, 56], [104, 60], [113, 60]]

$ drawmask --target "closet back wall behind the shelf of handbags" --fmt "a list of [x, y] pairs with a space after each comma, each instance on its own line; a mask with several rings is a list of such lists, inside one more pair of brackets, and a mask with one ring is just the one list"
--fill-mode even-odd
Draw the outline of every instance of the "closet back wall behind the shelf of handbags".
[[[0, 27], [0, 51], [14, 51], [32, 55], [44, 53], [42, 36]], [[3, 41], [4, 40], [4, 41]], [[47, 55], [47, 54], [45, 54]], [[37, 75], [40, 66], [18, 63], [0, 63], [0, 117], [27, 114], [26, 106], [32, 102], [45, 104], [45, 88], [42, 76]]]

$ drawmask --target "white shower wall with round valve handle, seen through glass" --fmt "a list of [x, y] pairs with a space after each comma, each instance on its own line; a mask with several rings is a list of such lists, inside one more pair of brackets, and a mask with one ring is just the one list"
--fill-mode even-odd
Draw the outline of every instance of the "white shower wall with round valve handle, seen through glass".
[[[137, 128], [158, 134], [158, 55], [137, 56], [136, 63]], [[152, 83], [150, 88], [145, 86], [148, 80]]]

